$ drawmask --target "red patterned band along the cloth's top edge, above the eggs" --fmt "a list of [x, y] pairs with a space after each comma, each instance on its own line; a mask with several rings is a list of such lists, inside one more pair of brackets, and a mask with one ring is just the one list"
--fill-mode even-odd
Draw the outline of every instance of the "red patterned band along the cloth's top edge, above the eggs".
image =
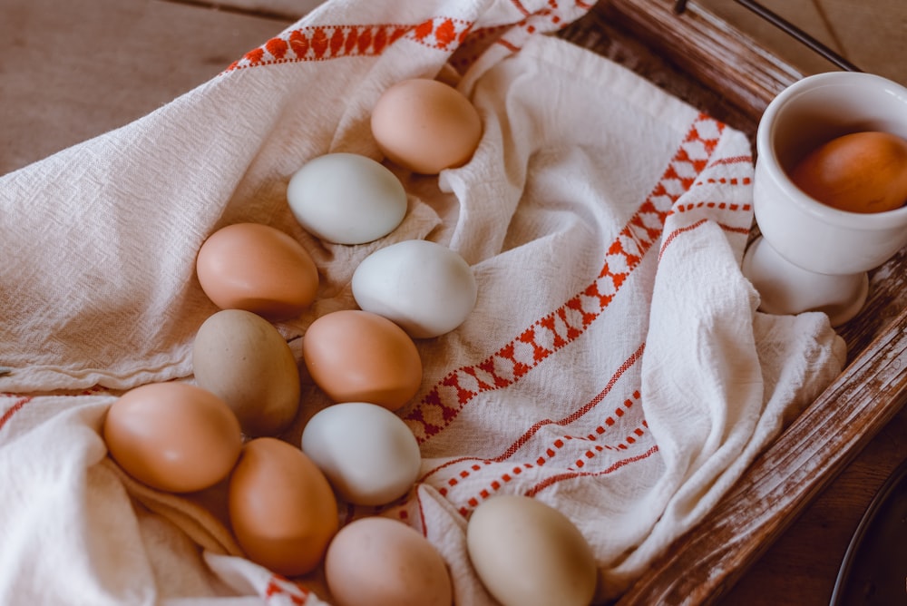
[[472, 26], [445, 16], [420, 24], [309, 25], [271, 38], [230, 64], [225, 72], [258, 65], [379, 55], [404, 36], [429, 48], [453, 53]]

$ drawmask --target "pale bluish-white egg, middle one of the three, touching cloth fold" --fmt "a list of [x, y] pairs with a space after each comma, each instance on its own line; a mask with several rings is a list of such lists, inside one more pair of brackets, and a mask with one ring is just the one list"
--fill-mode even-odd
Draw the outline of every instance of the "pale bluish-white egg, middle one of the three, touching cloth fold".
[[392, 320], [413, 338], [459, 327], [478, 294], [463, 257], [423, 239], [375, 250], [356, 267], [352, 287], [359, 308]]

